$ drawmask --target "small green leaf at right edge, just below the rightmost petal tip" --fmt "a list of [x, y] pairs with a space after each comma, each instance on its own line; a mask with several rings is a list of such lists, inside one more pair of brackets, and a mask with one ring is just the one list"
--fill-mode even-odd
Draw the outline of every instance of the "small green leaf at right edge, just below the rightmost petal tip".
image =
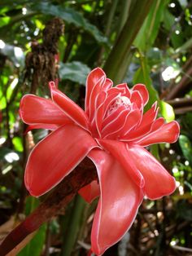
[[190, 139], [185, 135], [180, 135], [179, 144], [185, 159], [190, 162], [190, 165], [192, 165], [192, 145], [190, 143]]

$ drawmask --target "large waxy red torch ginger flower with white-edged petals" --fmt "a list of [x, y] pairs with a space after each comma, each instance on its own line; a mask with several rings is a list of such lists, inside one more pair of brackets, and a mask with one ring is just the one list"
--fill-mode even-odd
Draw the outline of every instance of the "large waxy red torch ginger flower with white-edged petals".
[[[125, 83], [112, 87], [101, 68], [86, 82], [85, 111], [50, 82], [52, 99], [25, 95], [20, 117], [30, 129], [53, 130], [28, 157], [25, 185], [33, 196], [41, 196], [68, 175], [86, 156], [98, 170], [98, 208], [91, 234], [92, 250], [103, 252], [120, 241], [137, 214], [143, 196], [157, 199], [171, 194], [175, 179], [144, 147], [152, 143], [174, 143], [177, 121], [156, 119], [146, 86], [129, 90]], [[81, 189], [87, 201], [98, 196], [95, 181]], [[111, 227], [114, 227], [111, 232]]]

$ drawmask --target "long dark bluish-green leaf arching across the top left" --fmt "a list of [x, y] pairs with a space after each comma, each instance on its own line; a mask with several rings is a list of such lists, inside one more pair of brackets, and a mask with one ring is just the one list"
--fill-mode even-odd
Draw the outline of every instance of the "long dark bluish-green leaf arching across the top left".
[[55, 15], [68, 22], [68, 24], [74, 24], [76, 27], [85, 29], [91, 33], [98, 42], [107, 43], [107, 38], [103, 36], [103, 33], [101, 33], [96, 26], [90, 24], [89, 20], [86, 20], [80, 12], [72, 8], [63, 8], [48, 2], [38, 2], [32, 5], [32, 9], [34, 11], [41, 11], [41, 13], [46, 15]]

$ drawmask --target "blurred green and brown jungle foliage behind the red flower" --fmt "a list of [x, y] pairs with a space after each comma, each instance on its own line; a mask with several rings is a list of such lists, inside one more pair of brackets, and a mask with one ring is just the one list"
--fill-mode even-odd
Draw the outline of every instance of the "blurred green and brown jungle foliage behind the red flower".
[[[86, 76], [99, 66], [115, 84], [146, 84], [146, 109], [157, 100], [159, 116], [181, 125], [177, 143], [149, 148], [177, 179], [176, 192], [144, 200], [133, 227], [104, 255], [192, 255], [191, 52], [189, 0], [1, 0], [0, 241], [41, 203], [24, 188], [24, 166], [48, 131], [24, 134], [22, 95], [50, 97], [56, 79], [83, 106]], [[76, 196], [18, 255], [86, 255], [96, 205]]]

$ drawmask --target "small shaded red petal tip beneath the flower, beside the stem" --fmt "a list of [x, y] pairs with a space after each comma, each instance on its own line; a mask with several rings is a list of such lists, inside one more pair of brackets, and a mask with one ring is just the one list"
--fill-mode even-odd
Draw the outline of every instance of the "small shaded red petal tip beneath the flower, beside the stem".
[[98, 181], [94, 180], [92, 183], [89, 183], [85, 187], [79, 190], [79, 194], [87, 201], [91, 203], [95, 198], [100, 196], [100, 188], [98, 185]]

